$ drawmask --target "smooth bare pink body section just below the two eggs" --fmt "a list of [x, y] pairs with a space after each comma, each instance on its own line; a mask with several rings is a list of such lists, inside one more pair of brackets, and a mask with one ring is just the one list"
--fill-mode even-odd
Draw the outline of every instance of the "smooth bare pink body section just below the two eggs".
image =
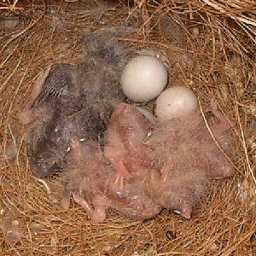
[[117, 171], [120, 188], [131, 173], [151, 165], [152, 160], [144, 144], [152, 130], [153, 124], [137, 108], [119, 103], [114, 109], [108, 125], [104, 156]]

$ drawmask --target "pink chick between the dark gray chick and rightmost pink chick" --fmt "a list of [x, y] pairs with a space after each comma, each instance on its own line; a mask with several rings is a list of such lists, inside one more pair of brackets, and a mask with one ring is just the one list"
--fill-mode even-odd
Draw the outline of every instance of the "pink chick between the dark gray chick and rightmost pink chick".
[[67, 209], [73, 196], [94, 222], [102, 222], [108, 208], [133, 219], [152, 218], [160, 212], [162, 207], [145, 189], [148, 170], [154, 168], [143, 147], [151, 129], [137, 108], [119, 103], [110, 119], [104, 153], [96, 141], [81, 143], [73, 138], [63, 172], [62, 206]]

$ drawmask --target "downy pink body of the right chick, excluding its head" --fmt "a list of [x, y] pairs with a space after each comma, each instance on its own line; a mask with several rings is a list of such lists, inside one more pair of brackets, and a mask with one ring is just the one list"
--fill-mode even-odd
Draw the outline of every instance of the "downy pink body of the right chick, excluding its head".
[[235, 170], [224, 156], [224, 154], [231, 155], [233, 145], [229, 131], [230, 124], [218, 112], [213, 102], [211, 105], [207, 112], [212, 112], [215, 120], [210, 121], [208, 125], [218, 145], [207, 129], [200, 109], [195, 109], [194, 113], [188, 116], [155, 125], [148, 143], [148, 146], [153, 148], [150, 155], [160, 160], [164, 166], [176, 166], [176, 170], [179, 166], [183, 169], [188, 165], [189, 169], [202, 169], [210, 178], [233, 176]]

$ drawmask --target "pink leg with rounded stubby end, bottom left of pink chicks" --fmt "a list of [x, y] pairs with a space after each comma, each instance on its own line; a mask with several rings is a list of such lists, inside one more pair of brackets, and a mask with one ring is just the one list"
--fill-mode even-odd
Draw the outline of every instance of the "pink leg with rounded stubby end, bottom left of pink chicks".
[[90, 204], [79, 195], [78, 192], [73, 192], [73, 199], [76, 201], [84, 210], [88, 213], [89, 217], [93, 222], [99, 223], [106, 218], [106, 206], [100, 203], [96, 203], [94, 209]]

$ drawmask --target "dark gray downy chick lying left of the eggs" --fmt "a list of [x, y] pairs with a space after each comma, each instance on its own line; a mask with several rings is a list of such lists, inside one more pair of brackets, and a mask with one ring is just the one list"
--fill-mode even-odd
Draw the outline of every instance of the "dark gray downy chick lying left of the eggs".
[[125, 100], [119, 85], [127, 57], [124, 46], [108, 31], [92, 34], [85, 43], [90, 49], [85, 61], [42, 73], [19, 114], [29, 124], [27, 155], [38, 177], [61, 171], [70, 138], [102, 145], [113, 108]]

